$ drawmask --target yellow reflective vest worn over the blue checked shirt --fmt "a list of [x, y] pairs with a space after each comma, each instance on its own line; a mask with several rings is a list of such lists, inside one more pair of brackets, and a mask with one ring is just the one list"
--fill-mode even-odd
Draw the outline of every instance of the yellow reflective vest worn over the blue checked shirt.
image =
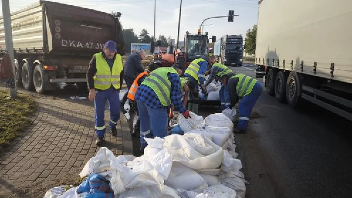
[[161, 67], [151, 72], [141, 83], [153, 89], [163, 106], [171, 105], [171, 82], [168, 73], [178, 75], [173, 67]]

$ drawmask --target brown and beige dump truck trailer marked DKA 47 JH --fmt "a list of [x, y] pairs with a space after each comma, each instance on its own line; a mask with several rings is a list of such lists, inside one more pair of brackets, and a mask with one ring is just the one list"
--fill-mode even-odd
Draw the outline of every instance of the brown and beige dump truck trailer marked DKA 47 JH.
[[[38, 93], [54, 90], [58, 82], [86, 87], [89, 61], [106, 41], [115, 41], [118, 53], [125, 54], [120, 15], [51, 1], [11, 13], [17, 85]], [[5, 48], [0, 17], [1, 57]]]

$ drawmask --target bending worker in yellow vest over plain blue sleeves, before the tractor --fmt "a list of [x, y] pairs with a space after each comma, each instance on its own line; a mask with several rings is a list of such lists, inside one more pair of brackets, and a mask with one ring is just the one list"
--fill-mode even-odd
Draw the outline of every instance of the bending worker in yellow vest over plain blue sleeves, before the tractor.
[[[213, 61], [213, 62], [212, 62]], [[192, 86], [190, 90], [189, 106], [188, 109], [195, 114], [198, 114], [198, 106], [200, 103], [198, 86], [202, 87], [202, 93], [207, 95], [207, 89], [204, 85], [205, 73], [210, 65], [215, 62], [214, 60], [209, 60], [207, 57], [197, 58], [192, 61], [184, 72], [184, 76], [188, 81], [191, 81]]]

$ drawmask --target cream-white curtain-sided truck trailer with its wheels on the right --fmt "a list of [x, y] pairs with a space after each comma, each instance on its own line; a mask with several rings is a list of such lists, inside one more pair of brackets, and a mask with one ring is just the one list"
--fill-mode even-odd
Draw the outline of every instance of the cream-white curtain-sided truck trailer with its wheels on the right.
[[260, 0], [255, 62], [268, 94], [352, 120], [351, 19], [351, 0]]

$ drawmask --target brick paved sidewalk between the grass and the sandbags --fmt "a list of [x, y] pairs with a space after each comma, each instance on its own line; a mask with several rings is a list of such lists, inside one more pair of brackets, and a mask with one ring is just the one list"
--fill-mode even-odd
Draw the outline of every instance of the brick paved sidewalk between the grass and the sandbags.
[[[22, 93], [34, 96], [38, 110], [30, 128], [0, 154], [0, 189], [6, 188], [1, 185], [4, 182], [19, 186], [77, 173], [99, 150], [94, 143], [93, 102]], [[106, 108], [105, 120], [108, 118]], [[103, 146], [115, 155], [132, 155], [130, 130], [124, 115], [117, 126], [118, 137], [113, 137], [107, 128]]]

